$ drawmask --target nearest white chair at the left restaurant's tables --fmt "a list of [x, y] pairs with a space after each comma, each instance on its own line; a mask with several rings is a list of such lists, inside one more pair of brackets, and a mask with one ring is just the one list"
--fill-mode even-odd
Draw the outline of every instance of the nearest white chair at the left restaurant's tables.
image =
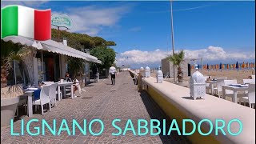
[[49, 103], [49, 110], [51, 110], [49, 93], [50, 93], [50, 85], [42, 86], [42, 90], [40, 92], [40, 99], [34, 101], [33, 103], [34, 105], [41, 106], [42, 115], [43, 115], [43, 105]]

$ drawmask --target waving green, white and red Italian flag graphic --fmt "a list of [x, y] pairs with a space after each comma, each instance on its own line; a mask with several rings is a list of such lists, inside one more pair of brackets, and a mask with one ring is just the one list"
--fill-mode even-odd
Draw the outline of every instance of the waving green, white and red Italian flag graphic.
[[5, 6], [1, 10], [1, 38], [16, 35], [45, 41], [51, 38], [51, 10]]

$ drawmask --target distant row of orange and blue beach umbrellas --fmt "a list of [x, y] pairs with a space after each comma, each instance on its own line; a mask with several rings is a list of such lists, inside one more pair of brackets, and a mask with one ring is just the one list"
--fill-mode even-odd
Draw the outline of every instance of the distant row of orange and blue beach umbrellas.
[[[203, 66], [199, 66], [199, 69], [204, 69], [204, 70], [231, 70], [231, 69], [250, 69], [250, 68], [254, 68], [255, 67], [255, 63], [253, 62], [242, 62], [242, 64], [239, 64], [238, 62], [234, 63], [234, 64], [222, 64], [222, 62], [220, 62], [220, 64], [216, 64], [216, 65], [203, 65]], [[194, 66], [191, 66], [191, 69], [194, 70]]]

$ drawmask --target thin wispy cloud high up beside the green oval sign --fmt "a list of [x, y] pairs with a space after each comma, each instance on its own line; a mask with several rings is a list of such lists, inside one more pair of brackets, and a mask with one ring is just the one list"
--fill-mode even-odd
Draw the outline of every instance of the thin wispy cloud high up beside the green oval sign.
[[52, 12], [53, 14], [67, 14], [73, 22], [72, 32], [96, 35], [104, 26], [113, 27], [124, 14], [130, 10], [129, 6], [99, 7], [83, 6], [68, 8], [66, 11]]

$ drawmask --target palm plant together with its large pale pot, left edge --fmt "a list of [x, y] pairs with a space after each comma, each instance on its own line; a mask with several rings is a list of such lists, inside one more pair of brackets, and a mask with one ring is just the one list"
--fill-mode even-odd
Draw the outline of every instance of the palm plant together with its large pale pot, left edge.
[[28, 58], [28, 54], [32, 53], [30, 48], [11, 42], [1, 41], [1, 46], [1, 126], [6, 126], [14, 118], [19, 96], [24, 94], [22, 85], [7, 86], [8, 72], [13, 70], [14, 60], [23, 62], [22, 59]]

